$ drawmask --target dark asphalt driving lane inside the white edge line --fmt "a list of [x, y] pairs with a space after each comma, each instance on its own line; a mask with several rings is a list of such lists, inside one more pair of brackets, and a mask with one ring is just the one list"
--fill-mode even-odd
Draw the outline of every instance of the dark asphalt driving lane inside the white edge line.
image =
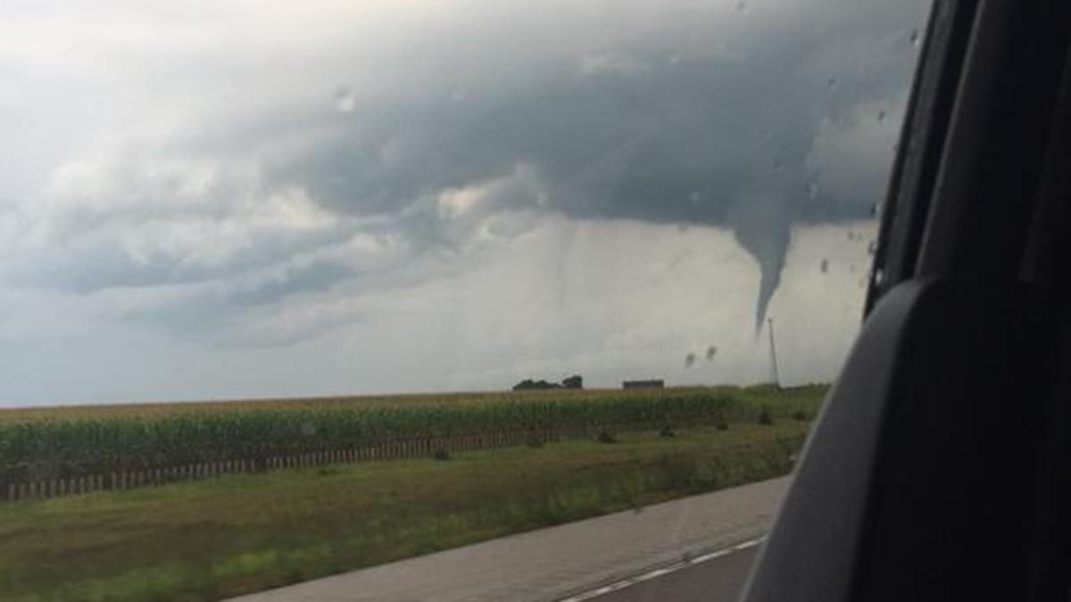
[[739, 599], [757, 547], [691, 565], [623, 589], [589, 598], [590, 602], [734, 602]]

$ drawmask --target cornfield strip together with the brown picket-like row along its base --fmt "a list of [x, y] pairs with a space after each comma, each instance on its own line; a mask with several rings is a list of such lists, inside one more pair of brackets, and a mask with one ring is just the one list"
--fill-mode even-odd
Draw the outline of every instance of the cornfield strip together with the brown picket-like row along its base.
[[0, 498], [812, 416], [823, 387], [545, 391], [0, 412]]

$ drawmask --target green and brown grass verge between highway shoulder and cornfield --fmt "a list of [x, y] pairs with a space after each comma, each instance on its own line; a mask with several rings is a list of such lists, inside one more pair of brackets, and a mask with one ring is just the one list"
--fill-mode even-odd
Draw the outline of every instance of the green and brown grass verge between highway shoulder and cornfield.
[[217, 600], [783, 475], [808, 423], [682, 426], [0, 505], [0, 599]]

